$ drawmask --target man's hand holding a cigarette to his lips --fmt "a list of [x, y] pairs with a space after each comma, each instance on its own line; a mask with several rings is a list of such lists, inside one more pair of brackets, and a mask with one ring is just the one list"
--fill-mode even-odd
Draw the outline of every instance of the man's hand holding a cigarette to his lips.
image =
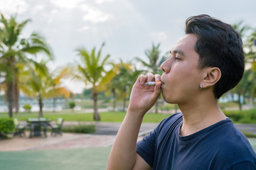
[[148, 73], [138, 77], [132, 87], [128, 111], [144, 116], [144, 114], [154, 106], [154, 103], [156, 103], [157, 98], [161, 94], [161, 82], [154, 86], [144, 85], [149, 81], [161, 81], [161, 76]]

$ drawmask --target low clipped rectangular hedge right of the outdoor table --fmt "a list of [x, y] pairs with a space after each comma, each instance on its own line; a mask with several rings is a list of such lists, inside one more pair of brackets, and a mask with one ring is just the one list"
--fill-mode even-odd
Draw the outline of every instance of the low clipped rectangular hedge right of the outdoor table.
[[73, 133], [94, 133], [96, 128], [95, 125], [70, 125], [63, 127], [62, 131]]

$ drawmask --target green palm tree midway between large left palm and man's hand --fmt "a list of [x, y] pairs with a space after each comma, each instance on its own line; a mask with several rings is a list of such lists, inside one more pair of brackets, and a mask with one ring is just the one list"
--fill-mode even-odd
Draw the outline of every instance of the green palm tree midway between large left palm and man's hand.
[[[102, 47], [104, 45], [105, 43], [102, 43], [98, 52], [96, 52], [96, 47], [91, 52], [85, 50], [83, 47], [76, 50], [80, 56], [81, 63], [78, 64], [78, 74], [75, 77], [82, 79], [85, 85], [92, 86], [94, 120], [100, 120], [100, 114], [97, 111], [97, 96], [101, 91], [107, 89], [118, 69], [117, 67], [113, 67], [114, 64], [108, 62], [110, 55], [106, 55], [101, 59]], [[112, 69], [107, 71], [105, 67], [110, 65], [112, 65]]]

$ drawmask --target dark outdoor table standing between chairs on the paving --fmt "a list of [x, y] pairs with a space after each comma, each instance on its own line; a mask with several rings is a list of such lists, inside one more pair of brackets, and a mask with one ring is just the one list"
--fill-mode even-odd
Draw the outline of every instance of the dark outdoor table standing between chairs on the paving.
[[30, 129], [29, 137], [41, 136], [42, 132], [45, 137], [47, 137], [47, 128], [50, 123], [48, 118], [28, 118], [27, 125]]

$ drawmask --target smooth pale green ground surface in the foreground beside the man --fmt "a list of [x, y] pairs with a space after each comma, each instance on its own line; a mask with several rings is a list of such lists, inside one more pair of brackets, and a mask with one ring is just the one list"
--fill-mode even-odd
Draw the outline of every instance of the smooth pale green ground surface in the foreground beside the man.
[[[256, 139], [249, 139], [256, 151]], [[0, 152], [1, 170], [103, 170], [111, 147]]]

